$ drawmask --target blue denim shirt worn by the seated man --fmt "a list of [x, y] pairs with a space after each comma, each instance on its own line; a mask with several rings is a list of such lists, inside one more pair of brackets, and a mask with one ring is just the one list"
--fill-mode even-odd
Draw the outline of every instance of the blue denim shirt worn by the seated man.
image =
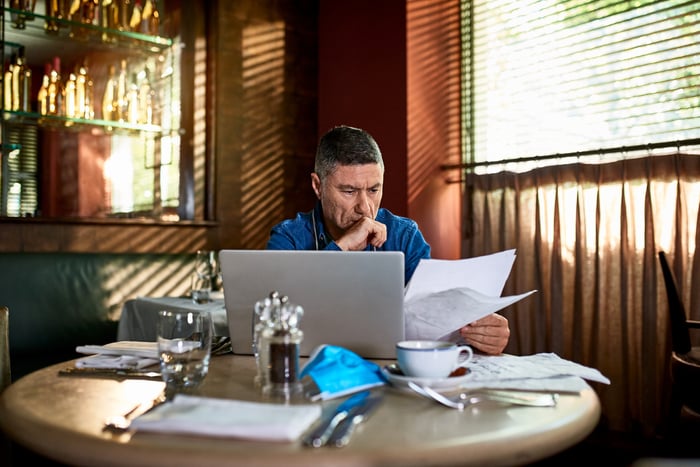
[[[314, 222], [315, 220], [315, 222]], [[423, 238], [418, 224], [412, 219], [397, 216], [384, 208], [377, 212], [377, 222], [386, 225], [386, 242], [377, 251], [401, 251], [404, 254], [404, 284], [411, 280], [421, 259], [430, 258], [430, 245]], [[330, 250], [340, 251], [323, 223], [321, 203], [313, 210], [297, 213], [272, 228], [267, 242], [268, 250]], [[368, 245], [366, 250], [373, 247]]]

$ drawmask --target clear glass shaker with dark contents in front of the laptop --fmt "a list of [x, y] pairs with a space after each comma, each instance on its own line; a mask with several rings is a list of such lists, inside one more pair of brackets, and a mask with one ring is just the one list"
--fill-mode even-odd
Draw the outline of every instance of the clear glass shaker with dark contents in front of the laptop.
[[304, 310], [290, 303], [286, 296], [279, 296], [278, 300], [271, 300], [269, 312], [258, 339], [262, 392], [265, 396], [289, 400], [303, 393], [299, 381], [299, 346], [304, 333], [299, 329], [299, 320]]

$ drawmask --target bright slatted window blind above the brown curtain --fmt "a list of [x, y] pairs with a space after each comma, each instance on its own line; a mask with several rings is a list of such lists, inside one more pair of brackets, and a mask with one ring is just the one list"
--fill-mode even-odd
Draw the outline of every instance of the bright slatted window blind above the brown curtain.
[[465, 156], [700, 136], [700, 2], [463, 1]]

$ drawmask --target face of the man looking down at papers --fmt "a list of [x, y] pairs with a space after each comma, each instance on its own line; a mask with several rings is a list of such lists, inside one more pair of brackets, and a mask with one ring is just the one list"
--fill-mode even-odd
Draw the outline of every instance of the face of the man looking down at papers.
[[324, 183], [312, 173], [311, 184], [323, 205], [326, 228], [338, 239], [362, 217], [377, 216], [384, 171], [379, 164], [338, 165]]

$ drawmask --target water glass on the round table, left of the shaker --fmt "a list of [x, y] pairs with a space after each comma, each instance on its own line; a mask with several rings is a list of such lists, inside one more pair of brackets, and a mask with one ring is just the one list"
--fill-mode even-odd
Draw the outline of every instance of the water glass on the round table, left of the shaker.
[[189, 392], [209, 372], [212, 321], [206, 311], [163, 310], [158, 315], [158, 355], [166, 393]]

